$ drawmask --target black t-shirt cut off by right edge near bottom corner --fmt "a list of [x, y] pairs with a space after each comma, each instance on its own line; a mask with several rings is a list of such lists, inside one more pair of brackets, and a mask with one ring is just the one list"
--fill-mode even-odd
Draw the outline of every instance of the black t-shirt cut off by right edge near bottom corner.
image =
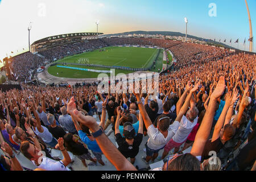
[[256, 160], [256, 137], [246, 144], [237, 156], [237, 164], [241, 171], [251, 167]]

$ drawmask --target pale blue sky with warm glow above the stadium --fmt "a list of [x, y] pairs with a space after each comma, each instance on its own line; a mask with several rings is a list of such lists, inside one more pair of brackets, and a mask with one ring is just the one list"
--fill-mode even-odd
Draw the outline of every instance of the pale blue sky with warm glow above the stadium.
[[[249, 4], [253, 34], [256, 34], [256, 1]], [[216, 16], [209, 16], [210, 3], [216, 4]], [[28, 24], [32, 22], [31, 44], [47, 36], [73, 32], [113, 34], [126, 31], [185, 32], [207, 39], [219, 39], [237, 48], [249, 49], [249, 21], [245, 1], [231, 0], [0, 0], [0, 60], [28, 50]], [[228, 44], [230, 45], [230, 44]], [[18, 50], [18, 52], [17, 52]], [[14, 53], [11, 54], [11, 51]], [[256, 48], [254, 46], [254, 52]]]

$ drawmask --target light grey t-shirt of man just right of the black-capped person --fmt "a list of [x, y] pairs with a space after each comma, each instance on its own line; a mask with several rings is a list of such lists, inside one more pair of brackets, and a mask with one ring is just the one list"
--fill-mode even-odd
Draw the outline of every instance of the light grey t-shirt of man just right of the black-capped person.
[[160, 133], [160, 131], [154, 127], [154, 125], [150, 125], [147, 129], [148, 140], [147, 146], [152, 150], [158, 150], [159, 148], [163, 148], [169, 140], [174, 137], [180, 123], [175, 121], [168, 128], [168, 135], [164, 138], [164, 135]]

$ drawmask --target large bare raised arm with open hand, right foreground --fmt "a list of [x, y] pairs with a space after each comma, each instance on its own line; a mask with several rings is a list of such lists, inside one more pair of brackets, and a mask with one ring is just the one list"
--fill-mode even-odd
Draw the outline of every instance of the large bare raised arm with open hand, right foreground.
[[209, 106], [205, 112], [203, 121], [197, 131], [195, 142], [191, 149], [191, 154], [194, 156], [201, 156], [204, 150], [205, 143], [207, 142], [212, 127], [213, 117], [215, 114], [214, 108], [217, 102], [217, 98], [222, 95], [225, 90], [225, 78], [222, 76], [218, 81], [216, 89], [210, 96]]

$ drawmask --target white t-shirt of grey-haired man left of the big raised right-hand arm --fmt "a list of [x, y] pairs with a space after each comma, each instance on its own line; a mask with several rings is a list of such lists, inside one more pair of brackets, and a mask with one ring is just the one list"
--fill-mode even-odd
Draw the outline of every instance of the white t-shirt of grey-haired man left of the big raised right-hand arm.
[[172, 137], [172, 140], [174, 140], [174, 142], [177, 142], [177, 143], [184, 142], [185, 139], [188, 138], [188, 135], [191, 133], [193, 127], [196, 126], [197, 118], [198, 117], [196, 117], [196, 119], [194, 119], [194, 121], [191, 122], [187, 119], [187, 117], [183, 115], [180, 121], [179, 129], [177, 130], [174, 137]]

